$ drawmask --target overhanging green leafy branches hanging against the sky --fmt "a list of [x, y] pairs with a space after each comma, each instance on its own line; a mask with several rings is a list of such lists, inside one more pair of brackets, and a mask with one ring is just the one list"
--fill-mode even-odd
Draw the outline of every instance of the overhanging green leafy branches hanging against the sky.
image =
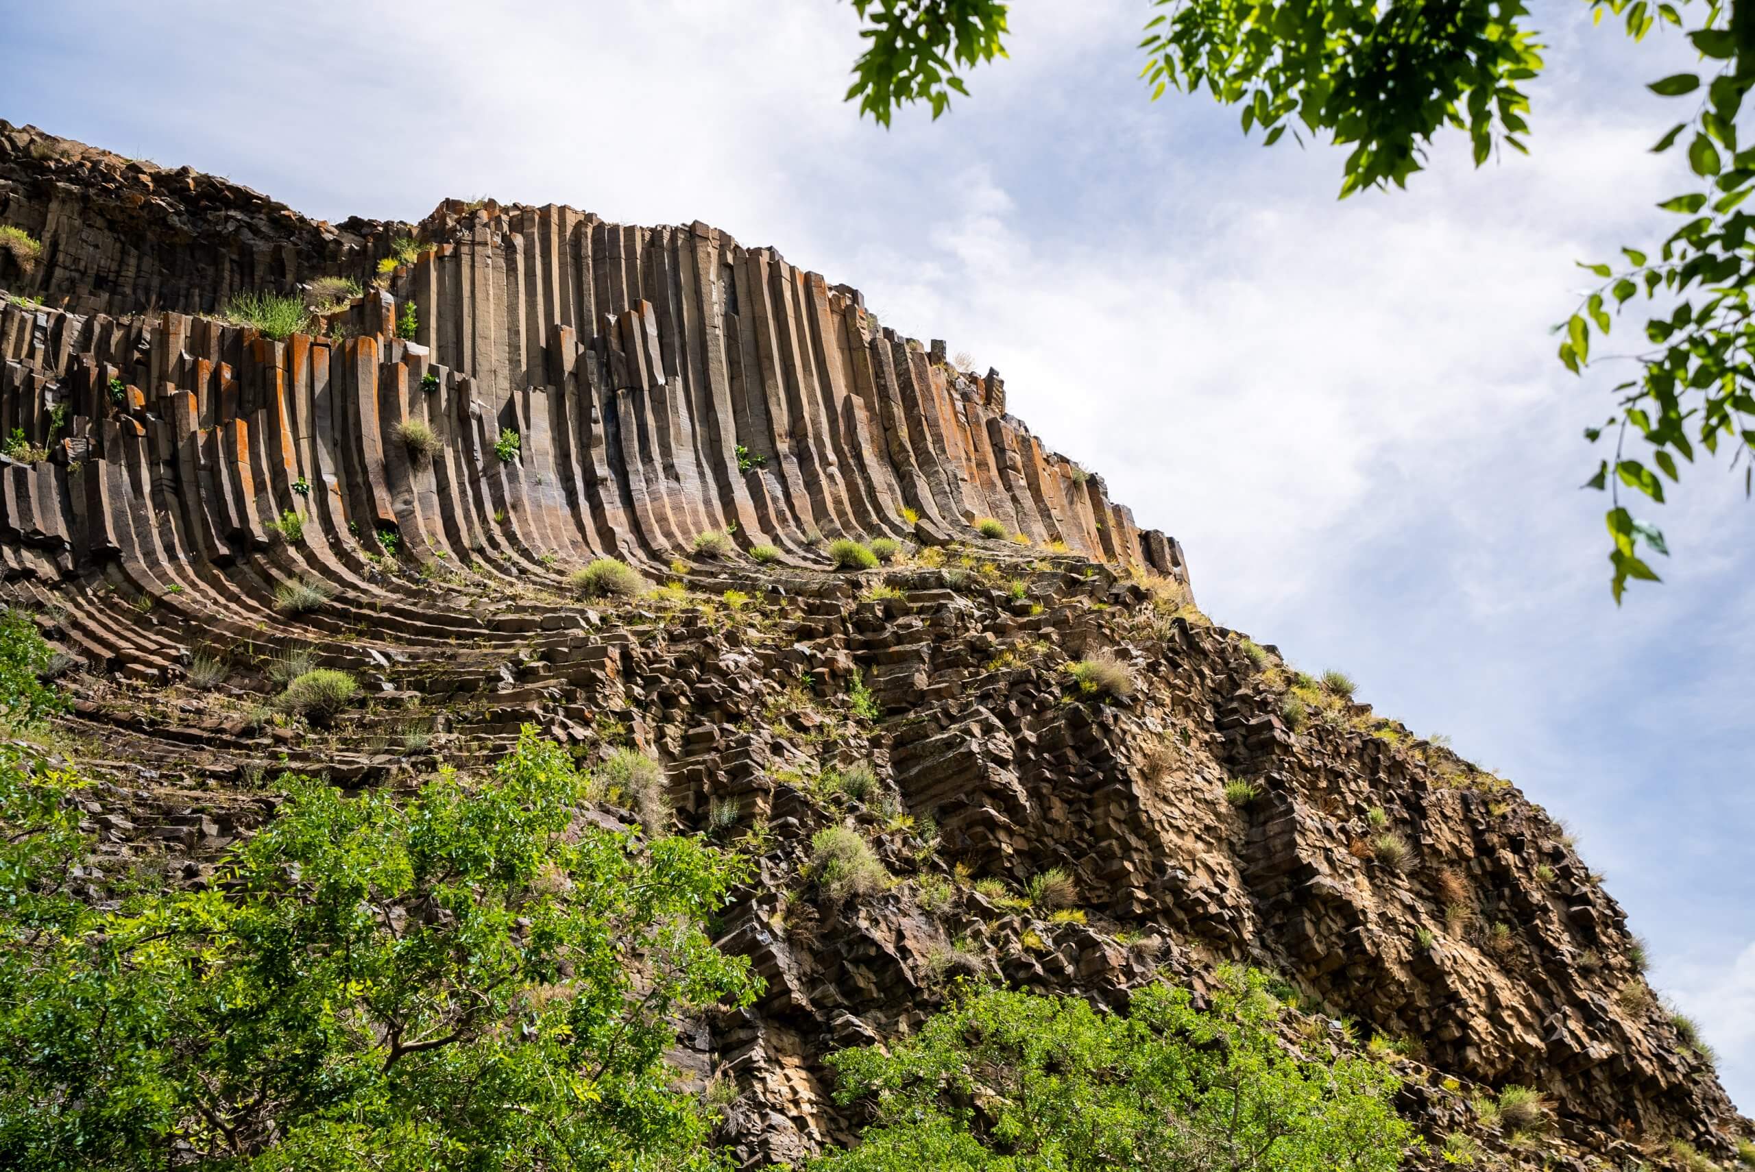
[[[1630, 360], [1637, 377], [1615, 388], [1615, 412], [1585, 437], [1615, 437], [1615, 456], [1587, 488], [1608, 490], [1611, 591], [1629, 579], [1658, 581], [1639, 547], [1667, 554], [1662, 532], [1622, 504], [1632, 490], [1664, 502], [1664, 481], [1680, 479], [1695, 446], [1732, 447], [1743, 491], [1755, 491], [1755, 360], [1750, 354], [1750, 286], [1755, 244], [1739, 205], [1755, 181], [1755, 149], [1739, 149], [1736, 119], [1755, 79], [1755, 0], [1588, 0], [1595, 18], [1622, 19], [1644, 39], [1657, 23], [1687, 30], [1706, 65], [1653, 82], [1651, 91], [1688, 98], [1692, 114], [1653, 147], [1687, 144], [1699, 189], [1658, 207], [1683, 223], [1651, 251], [1623, 249], [1627, 265], [1585, 265], [1601, 277], [1558, 330], [1560, 361], [1583, 374], [1592, 361]], [[855, 65], [848, 98], [890, 125], [893, 111], [927, 102], [934, 118], [949, 91], [967, 95], [955, 68], [1004, 56], [1006, 4], [983, 0], [853, 0], [872, 46]], [[1206, 89], [1243, 109], [1244, 133], [1272, 146], [1327, 137], [1351, 146], [1341, 195], [1406, 186], [1444, 128], [1467, 133], [1476, 167], [1497, 146], [1527, 153], [1525, 82], [1543, 68], [1522, 0], [1150, 0], [1158, 12], [1139, 47], [1151, 98]], [[1695, 19], [1687, 19], [1694, 16]], [[1651, 302], [1646, 347], [1592, 356], [1592, 333], [1609, 335], [1622, 307]], [[1613, 311], [1613, 312], [1611, 312]], [[1653, 467], [1627, 451], [1643, 442]]]

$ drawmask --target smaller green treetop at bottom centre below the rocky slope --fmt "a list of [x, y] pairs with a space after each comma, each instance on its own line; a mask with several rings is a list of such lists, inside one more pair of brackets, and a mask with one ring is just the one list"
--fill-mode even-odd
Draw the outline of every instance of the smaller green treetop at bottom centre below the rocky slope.
[[813, 1172], [1392, 1172], [1413, 1140], [1383, 1063], [1306, 1061], [1260, 974], [1221, 968], [1206, 1011], [1155, 986], [1130, 1012], [974, 991], [890, 1051], [830, 1058], [874, 1123]]

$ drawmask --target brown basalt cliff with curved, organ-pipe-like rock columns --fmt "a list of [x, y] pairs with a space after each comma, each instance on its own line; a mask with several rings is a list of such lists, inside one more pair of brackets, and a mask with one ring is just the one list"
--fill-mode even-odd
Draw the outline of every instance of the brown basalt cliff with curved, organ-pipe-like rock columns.
[[[735, 1088], [723, 1139], [751, 1167], [851, 1135], [823, 1056], [918, 1025], [960, 974], [1120, 1007], [1227, 960], [1279, 974], [1292, 1046], [1397, 1042], [1434, 1140], [1583, 1168], [1748, 1132], [1541, 809], [1364, 705], [1297, 719], [1307, 684], [1202, 619], [1174, 540], [1006, 414], [997, 374], [853, 289], [565, 207], [330, 228], [4, 123], [0, 223], [42, 240], [30, 272], [0, 251], [0, 432], [49, 453], [0, 458], [0, 567], [102, 779], [93, 898], [128, 868], [205, 883], [272, 816], [270, 770], [409, 784], [535, 723], [656, 753], [681, 828], [760, 856], [721, 942], [767, 993], [676, 1054]], [[367, 284], [404, 235], [414, 260], [309, 333], [202, 316]], [[835, 572], [841, 535], [904, 554]], [[604, 554], [676, 586], [581, 604], [565, 575]], [[1090, 654], [1132, 686], [1081, 690]], [[367, 704], [270, 718], [297, 661]], [[835, 825], [892, 884], [818, 890]], [[1081, 914], [1020, 898], [1055, 867]], [[1506, 1084], [1555, 1126], [1483, 1125], [1469, 1097]]]

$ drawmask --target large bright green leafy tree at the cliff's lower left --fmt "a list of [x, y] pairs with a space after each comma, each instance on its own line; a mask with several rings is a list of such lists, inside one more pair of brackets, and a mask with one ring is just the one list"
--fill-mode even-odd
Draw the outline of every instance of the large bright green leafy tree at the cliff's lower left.
[[283, 783], [212, 886], [104, 911], [77, 779], [0, 754], [0, 1167], [721, 1167], [663, 1053], [755, 997], [702, 930], [746, 863], [581, 823], [530, 728], [481, 786]]

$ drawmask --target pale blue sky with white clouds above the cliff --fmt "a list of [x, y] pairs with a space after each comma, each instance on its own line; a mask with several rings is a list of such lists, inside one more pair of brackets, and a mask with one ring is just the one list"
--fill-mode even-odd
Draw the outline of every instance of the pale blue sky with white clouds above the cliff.
[[[276, 11], [284, 9], [284, 11]], [[1565, 818], [1755, 1109], [1755, 505], [1695, 468], [1664, 586], [1609, 600], [1553, 361], [1574, 260], [1683, 189], [1636, 82], [1687, 63], [1537, 4], [1534, 158], [1441, 142], [1337, 202], [1341, 154], [1146, 102], [1144, 0], [1018, 0], [1011, 61], [890, 132], [841, 102], [839, 0], [81, 4], [7, 16], [0, 118], [328, 219], [441, 197], [706, 219], [1007, 379], [1016, 414], [1179, 537], [1200, 604]]]

